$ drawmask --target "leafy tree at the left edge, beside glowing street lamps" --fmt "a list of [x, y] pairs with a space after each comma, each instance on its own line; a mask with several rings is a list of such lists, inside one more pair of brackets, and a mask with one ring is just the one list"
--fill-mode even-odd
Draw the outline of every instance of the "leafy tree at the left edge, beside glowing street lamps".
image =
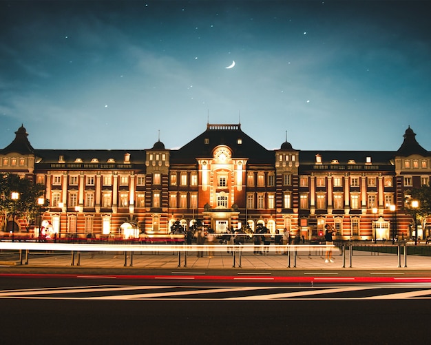
[[[12, 191], [19, 193], [18, 200], [12, 200]], [[8, 217], [12, 212], [17, 217], [23, 217], [25, 228], [28, 231], [30, 225], [43, 211], [37, 200], [43, 197], [44, 191], [44, 185], [34, 184], [28, 178], [20, 178], [17, 174], [0, 174], [0, 212], [3, 231], [6, 229]], [[45, 205], [47, 205], [46, 202]]]

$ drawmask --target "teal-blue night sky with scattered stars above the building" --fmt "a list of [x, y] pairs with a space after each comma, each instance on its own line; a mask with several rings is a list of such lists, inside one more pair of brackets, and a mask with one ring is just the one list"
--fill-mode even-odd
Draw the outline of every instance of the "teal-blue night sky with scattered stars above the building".
[[[0, 148], [431, 150], [430, 1], [0, 0]], [[235, 66], [226, 68], [233, 64]]]

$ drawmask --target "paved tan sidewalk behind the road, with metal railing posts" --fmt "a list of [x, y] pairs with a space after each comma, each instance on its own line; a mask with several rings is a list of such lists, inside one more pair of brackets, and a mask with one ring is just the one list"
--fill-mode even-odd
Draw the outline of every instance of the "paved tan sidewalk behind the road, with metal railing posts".
[[[325, 263], [324, 248], [314, 248], [309, 251], [297, 251], [297, 255], [280, 255], [271, 248], [268, 255], [255, 255], [251, 247], [244, 247], [242, 255], [235, 253], [235, 260], [231, 253], [226, 251], [215, 251], [212, 257], [204, 252], [203, 258], [198, 258], [196, 251], [189, 251], [187, 255], [182, 252], [178, 255], [176, 251], [164, 252], [81, 252], [74, 253], [35, 253], [30, 251], [28, 264], [25, 264], [23, 253], [22, 263], [27, 267], [70, 267], [80, 266], [83, 268], [118, 269], [133, 267], [135, 269], [252, 269], [252, 270], [285, 270], [285, 269], [431, 269], [431, 257], [408, 255], [407, 266], [405, 257], [390, 253], [370, 253], [365, 251], [346, 251], [341, 255], [339, 249], [333, 251], [333, 263]], [[290, 262], [289, 262], [290, 257]], [[6, 259], [6, 260], [5, 260]], [[1, 266], [21, 265], [19, 254], [0, 254]]]

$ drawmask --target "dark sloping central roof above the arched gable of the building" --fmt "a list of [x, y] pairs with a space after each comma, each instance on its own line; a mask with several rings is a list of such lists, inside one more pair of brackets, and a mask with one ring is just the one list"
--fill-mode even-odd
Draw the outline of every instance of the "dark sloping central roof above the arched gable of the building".
[[[208, 139], [208, 144], [205, 140]], [[238, 143], [241, 139], [241, 143]], [[225, 145], [232, 158], [249, 158], [249, 164], [273, 164], [275, 154], [247, 134], [241, 125], [207, 125], [207, 130], [178, 150], [171, 150], [171, 164], [196, 164], [196, 158], [212, 157], [213, 149]]]

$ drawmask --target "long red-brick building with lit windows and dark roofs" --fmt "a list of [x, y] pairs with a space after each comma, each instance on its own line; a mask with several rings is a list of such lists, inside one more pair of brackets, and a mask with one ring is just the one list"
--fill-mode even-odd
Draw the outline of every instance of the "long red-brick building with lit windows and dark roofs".
[[330, 223], [345, 240], [409, 238], [405, 196], [431, 175], [410, 127], [397, 151], [269, 150], [241, 125], [208, 124], [180, 149], [34, 149], [24, 127], [15, 134], [0, 171], [45, 185], [43, 220], [60, 238], [138, 238], [195, 220], [218, 233], [261, 223], [311, 240]]

